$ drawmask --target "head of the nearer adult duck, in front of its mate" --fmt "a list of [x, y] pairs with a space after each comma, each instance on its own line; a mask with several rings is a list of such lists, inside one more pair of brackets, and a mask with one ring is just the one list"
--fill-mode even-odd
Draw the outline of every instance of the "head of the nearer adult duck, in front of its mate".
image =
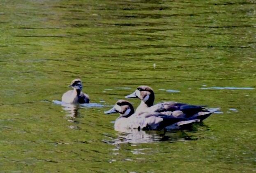
[[104, 114], [111, 114], [119, 112], [121, 117], [129, 117], [134, 114], [134, 108], [129, 101], [126, 100], [118, 100], [115, 103], [115, 106], [108, 111], [105, 111]]

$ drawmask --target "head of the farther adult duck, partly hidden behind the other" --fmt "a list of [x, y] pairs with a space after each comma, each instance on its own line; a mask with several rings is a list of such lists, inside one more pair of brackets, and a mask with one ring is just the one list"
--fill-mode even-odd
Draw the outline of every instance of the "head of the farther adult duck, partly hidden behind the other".
[[125, 98], [139, 98], [148, 106], [152, 106], [155, 100], [155, 94], [149, 86], [141, 85], [133, 93], [125, 96]]

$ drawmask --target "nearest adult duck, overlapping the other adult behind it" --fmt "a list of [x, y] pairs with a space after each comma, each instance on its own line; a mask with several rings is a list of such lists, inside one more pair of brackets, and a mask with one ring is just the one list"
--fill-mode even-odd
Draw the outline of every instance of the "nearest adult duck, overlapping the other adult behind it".
[[[105, 114], [118, 112], [120, 116], [115, 120], [115, 130], [124, 128], [142, 130], [180, 130], [186, 125], [200, 121], [197, 115], [187, 119], [181, 111], [179, 116], [164, 115], [159, 112], [134, 113], [134, 108], [129, 101], [118, 100], [113, 108]], [[175, 111], [174, 111], [175, 112]]]

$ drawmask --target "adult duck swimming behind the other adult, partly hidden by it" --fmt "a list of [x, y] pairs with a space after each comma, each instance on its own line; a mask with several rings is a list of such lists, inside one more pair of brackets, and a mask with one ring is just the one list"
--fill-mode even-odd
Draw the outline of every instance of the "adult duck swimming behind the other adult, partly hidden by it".
[[[173, 111], [183, 112], [188, 118], [196, 114], [201, 114], [200, 120], [206, 119], [211, 113], [220, 110], [220, 108], [208, 109], [205, 106], [190, 105], [187, 103], [180, 103], [176, 101], [163, 101], [154, 105], [155, 94], [152, 88], [146, 85], [138, 86], [138, 88], [125, 98], [139, 98], [141, 103], [136, 109], [136, 113], [140, 112], [161, 112], [165, 115], [174, 115]], [[179, 114], [178, 114], [179, 115]], [[177, 115], [177, 116], [178, 116]]]

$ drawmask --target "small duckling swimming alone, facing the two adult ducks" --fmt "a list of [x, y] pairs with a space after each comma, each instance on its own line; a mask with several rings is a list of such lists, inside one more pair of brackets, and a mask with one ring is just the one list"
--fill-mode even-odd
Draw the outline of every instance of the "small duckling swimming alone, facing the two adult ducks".
[[74, 79], [68, 87], [74, 88], [62, 95], [61, 101], [65, 103], [89, 103], [89, 96], [82, 92], [83, 84], [81, 79]]

